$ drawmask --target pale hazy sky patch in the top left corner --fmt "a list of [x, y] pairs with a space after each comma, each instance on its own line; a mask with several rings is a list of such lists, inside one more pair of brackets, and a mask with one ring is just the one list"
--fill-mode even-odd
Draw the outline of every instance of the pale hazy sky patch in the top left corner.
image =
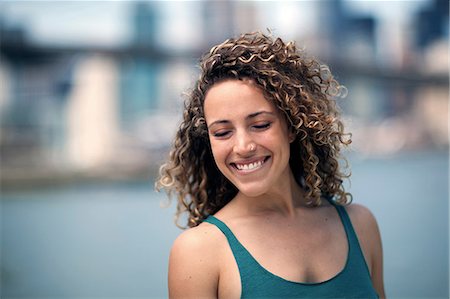
[[129, 1], [0, 1], [7, 25], [25, 25], [34, 41], [114, 45], [130, 37]]

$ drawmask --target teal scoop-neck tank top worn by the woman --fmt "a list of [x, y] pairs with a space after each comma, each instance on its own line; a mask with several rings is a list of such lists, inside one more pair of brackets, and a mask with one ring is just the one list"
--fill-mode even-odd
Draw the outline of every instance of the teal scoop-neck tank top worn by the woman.
[[319, 283], [293, 282], [272, 274], [253, 258], [225, 223], [214, 216], [205, 222], [217, 226], [230, 244], [241, 276], [241, 298], [378, 298], [350, 218], [344, 207], [335, 207], [347, 235], [347, 261], [336, 276]]

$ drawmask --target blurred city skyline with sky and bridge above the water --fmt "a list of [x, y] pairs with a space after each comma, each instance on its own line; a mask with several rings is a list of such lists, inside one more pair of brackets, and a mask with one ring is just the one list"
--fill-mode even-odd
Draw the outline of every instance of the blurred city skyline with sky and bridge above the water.
[[338, 103], [358, 153], [448, 148], [445, 0], [0, 7], [3, 179], [154, 173], [200, 55], [226, 38], [267, 28], [329, 64], [348, 88]]

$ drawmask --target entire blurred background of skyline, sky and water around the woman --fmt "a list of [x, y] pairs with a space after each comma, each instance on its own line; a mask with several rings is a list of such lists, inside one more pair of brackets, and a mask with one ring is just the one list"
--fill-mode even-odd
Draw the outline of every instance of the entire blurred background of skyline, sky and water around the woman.
[[[448, 298], [449, 2], [0, 1], [1, 298], [165, 298], [153, 190], [209, 48], [274, 35], [328, 64], [391, 298]], [[164, 207], [166, 206], [166, 207]]]

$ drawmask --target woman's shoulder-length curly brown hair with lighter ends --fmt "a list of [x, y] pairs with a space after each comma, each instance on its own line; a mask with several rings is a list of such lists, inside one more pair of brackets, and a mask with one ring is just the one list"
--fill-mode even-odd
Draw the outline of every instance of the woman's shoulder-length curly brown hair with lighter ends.
[[289, 164], [309, 204], [319, 206], [324, 198], [342, 205], [351, 202], [343, 187], [350, 174], [339, 167], [341, 146], [351, 143], [351, 135], [344, 133], [334, 100], [345, 87], [326, 65], [308, 58], [293, 42], [256, 32], [214, 46], [203, 55], [200, 67], [168, 162], [156, 182], [156, 189], [166, 189], [169, 198], [176, 193], [177, 225], [187, 212], [187, 225], [197, 226], [238, 192], [215, 164], [204, 116], [207, 91], [226, 79], [252, 80], [286, 116], [296, 135]]

